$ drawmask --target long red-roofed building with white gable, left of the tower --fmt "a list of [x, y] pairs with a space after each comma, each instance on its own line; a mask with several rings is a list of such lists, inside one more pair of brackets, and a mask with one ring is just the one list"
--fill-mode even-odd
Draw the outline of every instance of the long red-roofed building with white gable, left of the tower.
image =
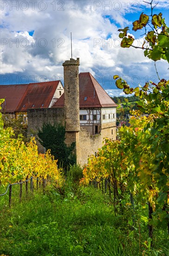
[[26, 123], [28, 108], [51, 108], [63, 93], [61, 81], [0, 85], [0, 99], [5, 99], [1, 112], [13, 118], [23, 115]]

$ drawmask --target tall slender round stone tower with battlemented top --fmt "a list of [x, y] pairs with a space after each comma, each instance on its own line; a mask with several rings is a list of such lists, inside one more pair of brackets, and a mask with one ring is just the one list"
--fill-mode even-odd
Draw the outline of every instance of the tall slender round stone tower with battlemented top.
[[65, 142], [69, 146], [75, 142], [75, 153], [77, 162], [80, 159], [79, 151], [79, 81], [77, 60], [70, 59], [63, 63], [64, 67], [64, 93], [65, 93], [65, 121], [66, 121], [66, 138]]

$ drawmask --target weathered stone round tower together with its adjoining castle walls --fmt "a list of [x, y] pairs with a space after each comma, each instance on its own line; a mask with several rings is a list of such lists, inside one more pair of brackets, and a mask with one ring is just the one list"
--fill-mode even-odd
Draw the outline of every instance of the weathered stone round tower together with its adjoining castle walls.
[[[83, 166], [87, 163], [87, 158], [91, 154], [95, 154], [98, 148], [103, 146], [105, 137], [116, 140], [116, 120], [99, 124], [98, 134], [91, 135], [92, 131], [87, 131], [85, 126], [80, 126], [79, 120], [79, 81], [77, 60], [70, 59], [65, 61], [64, 66], [64, 90], [65, 90], [65, 107], [64, 108], [38, 108], [28, 109], [28, 129], [37, 131], [37, 127], [41, 128], [43, 123], [55, 122], [66, 123], [65, 142], [70, 145], [75, 142], [75, 152], [77, 155], [77, 163]], [[86, 127], [87, 128], [87, 127]]]

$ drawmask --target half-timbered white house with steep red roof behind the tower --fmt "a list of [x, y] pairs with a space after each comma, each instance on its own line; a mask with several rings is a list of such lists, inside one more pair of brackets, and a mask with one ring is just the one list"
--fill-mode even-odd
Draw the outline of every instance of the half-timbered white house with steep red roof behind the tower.
[[[63, 108], [64, 94], [53, 105], [53, 108]], [[79, 74], [79, 119], [80, 128], [87, 130], [91, 135], [97, 135], [102, 130], [109, 129], [109, 135], [115, 139], [116, 107], [114, 101], [104, 91], [95, 78], [88, 73]]]

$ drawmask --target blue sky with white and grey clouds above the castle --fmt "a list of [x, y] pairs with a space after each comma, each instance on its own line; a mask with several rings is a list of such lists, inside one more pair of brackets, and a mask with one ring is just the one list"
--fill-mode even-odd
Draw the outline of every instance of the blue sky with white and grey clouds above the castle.
[[[154, 1], [156, 4], [156, 1]], [[169, 26], [169, 3], [159, 0], [154, 13], [163, 13]], [[123, 95], [113, 75], [132, 87], [157, 81], [154, 62], [142, 49], [120, 47], [118, 28], [130, 27], [136, 44], [144, 30], [132, 31], [132, 22], [150, 7], [132, 0], [1, 0], [0, 84], [63, 81], [62, 63], [80, 58], [79, 72], [91, 72], [110, 96]], [[168, 63], [157, 61], [160, 78], [169, 79]]]

